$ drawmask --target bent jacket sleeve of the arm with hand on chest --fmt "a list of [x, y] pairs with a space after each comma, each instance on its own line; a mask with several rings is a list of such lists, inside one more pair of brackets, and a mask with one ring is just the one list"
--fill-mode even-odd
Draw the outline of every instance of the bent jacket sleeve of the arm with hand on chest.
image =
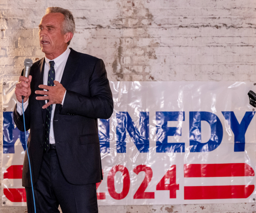
[[67, 90], [62, 115], [81, 115], [108, 119], [113, 113], [113, 98], [103, 60], [98, 59], [89, 82], [90, 97]]

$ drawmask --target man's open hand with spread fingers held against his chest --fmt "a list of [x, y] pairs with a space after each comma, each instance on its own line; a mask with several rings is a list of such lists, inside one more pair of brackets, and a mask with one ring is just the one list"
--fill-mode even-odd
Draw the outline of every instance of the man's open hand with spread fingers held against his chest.
[[36, 100], [49, 100], [49, 102], [42, 107], [43, 109], [49, 107], [51, 104], [61, 104], [64, 98], [66, 89], [58, 81], [53, 81], [53, 83], [55, 84], [55, 86], [47, 86], [43, 84], [38, 86], [40, 89], [47, 89], [48, 91], [44, 91], [44, 90], [35, 91], [35, 94], [47, 95], [47, 96], [37, 96], [35, 98]]

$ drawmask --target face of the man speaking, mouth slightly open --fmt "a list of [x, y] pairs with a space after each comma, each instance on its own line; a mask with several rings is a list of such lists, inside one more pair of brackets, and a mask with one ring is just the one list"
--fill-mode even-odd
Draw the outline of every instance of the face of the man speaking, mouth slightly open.
[[46, 56], [56, 58], [67, 49], [66, 37], [61, 33], [63, 21], [63, 14], [49, 13], [44, 15], [39, 24], [40, 46]]

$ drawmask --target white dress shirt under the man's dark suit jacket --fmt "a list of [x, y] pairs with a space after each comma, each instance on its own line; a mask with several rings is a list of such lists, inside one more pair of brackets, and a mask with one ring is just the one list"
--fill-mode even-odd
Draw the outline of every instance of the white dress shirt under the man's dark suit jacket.
[[[70, 54], [70, 49], [67, 47], [67, 50], [62, 53], [60, 56], [58, 56], [57, 58], [53, 59], [54, 60], [54, 69], [55, 69], [55, 81], [61, 82], [61, 78], [64, 72], [64, 68], [66, 66], [67, 63], [67, 58]], [[44, 85], [47, 85], [47, 81], [48, 81], [48, 72], [50, 70], [50, 66], [49, 66], [49, 59], [45, 58], [45, 64], [44, 64]], [[47, 91], [46, 89], [44, 89], [45, 91]], [[66, 91], [67, 92], [67, 91]], [[61, 102], [61, 105], [63, 105], [64, 103], [64, 98], [66, 96], [66, 92], [64, 94], [63, 100]], [[45, 103], [47, 104], [47, 100], [45, 100]], [[26, 101], [23, 104], [23, 108], [24, 111], [26, 110], [26, 108], [29, 105], [29, 101]], [[53, 117], [54, 117], [54, 111], [55, 111], [55, 105], [56, 104], [52, 104], [52, 115], [51, 115], [51, 127], [50, 127], [50, 144], [55, 144], [55, 139], [54, 139], [54, 130], [53, 130]], [[22, 115], [22, 104], [17, 101], [17, 112]]]

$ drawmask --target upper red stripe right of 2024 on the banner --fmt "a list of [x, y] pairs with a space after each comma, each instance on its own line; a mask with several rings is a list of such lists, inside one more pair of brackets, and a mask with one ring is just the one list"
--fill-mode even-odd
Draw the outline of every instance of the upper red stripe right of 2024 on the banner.
[[254, 176], [248, 164], [184, 164], [185, 178]]

